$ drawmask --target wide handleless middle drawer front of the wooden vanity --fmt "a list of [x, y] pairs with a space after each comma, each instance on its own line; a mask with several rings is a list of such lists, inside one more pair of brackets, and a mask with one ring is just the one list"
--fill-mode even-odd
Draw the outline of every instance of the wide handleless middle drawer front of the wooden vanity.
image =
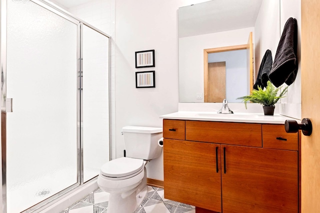
[[261, 124], [185, 121], [185, 140], [262, 147]]

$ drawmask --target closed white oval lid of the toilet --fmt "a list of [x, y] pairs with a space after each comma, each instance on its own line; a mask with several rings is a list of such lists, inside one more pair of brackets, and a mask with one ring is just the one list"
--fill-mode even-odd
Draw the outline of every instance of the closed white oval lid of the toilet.
[[103, 164], [101, 174], [106, 177], [120, 178], [137, 173], [142, 167], [142, 159], [122, 157]]

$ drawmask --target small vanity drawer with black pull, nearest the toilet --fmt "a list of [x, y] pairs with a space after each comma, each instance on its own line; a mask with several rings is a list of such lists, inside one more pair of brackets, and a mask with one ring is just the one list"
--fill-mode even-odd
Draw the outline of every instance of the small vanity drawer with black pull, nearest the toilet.
[[163, 138], [185, 140], [185, 121], [163, 119]]

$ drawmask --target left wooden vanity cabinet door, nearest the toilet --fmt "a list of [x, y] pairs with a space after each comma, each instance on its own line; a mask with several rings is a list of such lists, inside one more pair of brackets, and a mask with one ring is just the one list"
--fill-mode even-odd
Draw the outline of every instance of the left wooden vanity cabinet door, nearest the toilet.
[[221, 212], [220, 145], [164, 139], [164, 198]]

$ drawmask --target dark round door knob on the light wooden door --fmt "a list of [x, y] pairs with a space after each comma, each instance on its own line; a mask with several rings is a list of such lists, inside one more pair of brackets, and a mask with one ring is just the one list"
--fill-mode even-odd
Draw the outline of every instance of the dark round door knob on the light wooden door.
[[301, 124], [298, 124], [295, 120], [286, 120], [284, 122], [284, 129], [287, 133], [296, 133], [300, 129], [303, 135], [310, 136], [312, 133], [312, 124], [308, 118], [303, 118]]

